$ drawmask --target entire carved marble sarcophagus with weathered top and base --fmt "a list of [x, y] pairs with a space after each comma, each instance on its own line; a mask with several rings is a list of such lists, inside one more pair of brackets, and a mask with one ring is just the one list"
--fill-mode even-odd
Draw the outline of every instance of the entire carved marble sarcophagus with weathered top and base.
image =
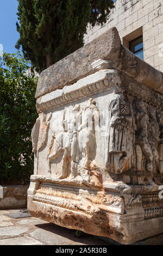
[[30, 215], [123, 244], [163, 233], [162, 93], [115, 27], [44, 70]]

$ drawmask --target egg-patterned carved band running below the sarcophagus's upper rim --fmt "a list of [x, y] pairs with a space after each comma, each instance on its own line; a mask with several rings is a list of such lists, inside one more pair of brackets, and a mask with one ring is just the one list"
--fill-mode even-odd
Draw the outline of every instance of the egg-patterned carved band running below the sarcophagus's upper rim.
[[[116, 80], [116, 77], [115, 77]], [[96, 95], [99, 93], [104, 92], [105, 90], [110, 90], [111, 87], [115, 86], [115, 83], [113, 81], [113, 76], [104, 79], [102, 81], [99, 81], [97, 83], [92, 83], [89, 85], [84, 86], [83, 88], [73, 90], [72, 92], [65, 93], [63, 92], [62, 96], [55, 97], [52, 100], [49, 100], [47, 102], [39, 103], [37, 102], [37, 111], [45, 111], [52, 108], [57, 108], [60, 106], [64, 106], [67, 103], [71, 103], [80, 99], [84, 99], [86, 97], [90, 97], [91, 95]], [[136, 83], [136, 86], [139, 86], [139, 84]], [[153, 92], [152, 90], [148, 90], [148, 95], [145, 92], [139, 93], [143, 88], [141, 87], [141, 90], [137, 89], [135, 90], [135, 83], [129, 83], [128, 86], [122, 84], [116, 83], [117, 86], [122, 87], [122, 92], [125, 94], [128, 94], [130, 96], [137, 97], [138, 99], [142, 100], [145, 103], [148, 103], [149, 105], [163, 109], [163, 96], [159, 93]]]

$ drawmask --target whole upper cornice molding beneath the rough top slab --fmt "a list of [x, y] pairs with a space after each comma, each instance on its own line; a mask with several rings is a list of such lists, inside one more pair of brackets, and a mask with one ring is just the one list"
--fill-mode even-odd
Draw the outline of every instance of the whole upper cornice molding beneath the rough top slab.
[[[95, 64], [101, 62], [102, 60]], [[80, 79], [77, 83], [41, 96], [37, 99], [37, 112], [55, 109], [111, 88], [163, 110], [163, 95], [145, 87], [122, 71], [104, 69]]]

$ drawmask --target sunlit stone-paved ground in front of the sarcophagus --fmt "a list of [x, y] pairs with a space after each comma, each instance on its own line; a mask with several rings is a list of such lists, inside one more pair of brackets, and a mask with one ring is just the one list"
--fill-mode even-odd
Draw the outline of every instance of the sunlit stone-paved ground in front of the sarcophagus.
[[39, 218], [11, 218], [5, 214], [24, 209], [0, 210], [0, 245], [110, 245], [97, 236], [74, 237], [76, 230]]

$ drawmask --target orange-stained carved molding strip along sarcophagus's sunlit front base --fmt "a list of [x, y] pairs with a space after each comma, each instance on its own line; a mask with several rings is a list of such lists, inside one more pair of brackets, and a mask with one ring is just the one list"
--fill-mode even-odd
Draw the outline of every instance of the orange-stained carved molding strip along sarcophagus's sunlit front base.
[[83, 191], [68, 191], [39, 186], [33, 201], [55, 205], [73, 211], [82, 211], [92, 215], [97, 209], [124, 213], [124, 199], [107, 194], [91, 194]]

